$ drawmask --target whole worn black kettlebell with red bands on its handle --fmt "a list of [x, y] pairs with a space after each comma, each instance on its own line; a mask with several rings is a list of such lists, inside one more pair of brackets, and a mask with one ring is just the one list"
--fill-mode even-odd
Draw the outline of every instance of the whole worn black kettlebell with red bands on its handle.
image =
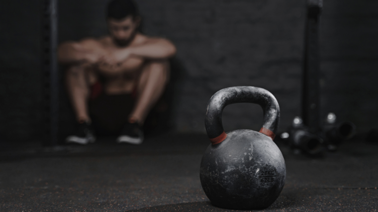
[[[225, 133], [222, 111], [234, 103], [256, 103], [264, 111], [260, 132]], [[261, 210], [279, 197], [286, 177], [283, 155], [273, 142], [280, 107], [269, 91], [252, 86], [224, 88], [209, 100], [205, 128], [211, 144], [200, 165], [200, 181], [212, 205], [233, 210]]]

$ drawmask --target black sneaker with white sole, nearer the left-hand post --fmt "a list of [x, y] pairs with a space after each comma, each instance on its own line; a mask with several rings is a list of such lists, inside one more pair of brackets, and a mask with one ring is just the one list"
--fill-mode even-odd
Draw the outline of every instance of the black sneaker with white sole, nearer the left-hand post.
[[94, 131], [92, 126], [89, 123], [81, 123], [78, 126], [77, 132], [75, 135], [69, 136], [66, 139], [67, 143], [79, 143], [79, 144], [88, 144], [96, 141]]

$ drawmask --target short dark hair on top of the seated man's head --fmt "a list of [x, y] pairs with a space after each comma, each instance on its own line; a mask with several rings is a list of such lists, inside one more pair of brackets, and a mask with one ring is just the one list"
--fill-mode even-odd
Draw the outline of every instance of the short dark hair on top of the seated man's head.
[[139, 10], [133, 0], [111, 0], [107, 4], [107, 18], [121, 20], [129, 15], [133, 18], [139, 16]]

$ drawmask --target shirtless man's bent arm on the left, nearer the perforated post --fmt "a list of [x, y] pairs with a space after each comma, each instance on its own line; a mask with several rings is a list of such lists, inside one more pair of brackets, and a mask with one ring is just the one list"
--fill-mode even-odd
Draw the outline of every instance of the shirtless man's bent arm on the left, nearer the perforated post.
[[84, 40], [81, 42], [68, 41], [58, 47], [58, 62], [64, 65], [80, 64], [80, 63], [96, 63], [102, 56], [93, 48], [88, 46], [95, 45], [94, 40]]

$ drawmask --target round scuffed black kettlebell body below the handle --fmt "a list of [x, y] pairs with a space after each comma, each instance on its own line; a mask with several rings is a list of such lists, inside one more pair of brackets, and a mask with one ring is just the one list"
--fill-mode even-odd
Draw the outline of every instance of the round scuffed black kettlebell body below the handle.
[[279, 197], [285, 177], [280, 149], [251, 130], [230, 132], [223, 142], [210, 144], [201, 161], [202, 188], [221, 208], [267, 208]]

